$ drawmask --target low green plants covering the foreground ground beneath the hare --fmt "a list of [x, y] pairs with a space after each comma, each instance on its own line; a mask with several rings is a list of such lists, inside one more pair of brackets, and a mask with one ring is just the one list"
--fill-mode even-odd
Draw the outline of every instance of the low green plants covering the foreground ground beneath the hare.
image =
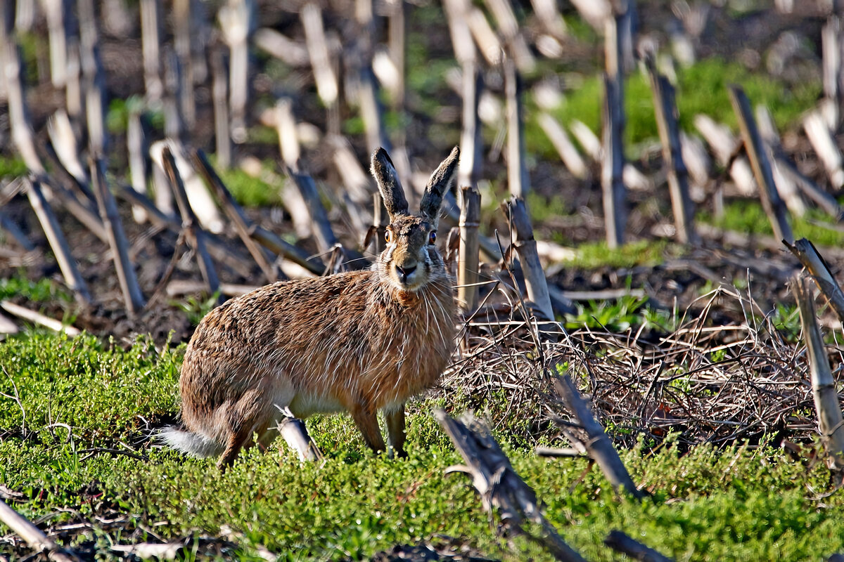
[[[239, 559], [255, 559], [259, 547], [289, 560], [361, 559], [440, 535], [495, 558], [547, 558], [527, 541], [495, 538], [468, 478], [443, 475], [460, 459], [430, 415], [435, 399], [412, 405], [403, 460], [365, 452], [340, 415], [308, 422], [322, 464], [302, 465], [277, 444], [219, 474], [208, 461], [149, 447], [149, 426], [176, 415], [182, 351], [43, 334], [0, 344], [0, 482], [23, 493], [14, 506], [47, 526], [90, 522], [70, 540], [103, 555], [111, 543], [225, 532], [235, 546], [224, 554]], [[670, 445], [640, 447], [623, 455], [653, 493], [640, 504], [614, 495], [597, 469], [580, 479], [582, 459], [546, 461], [511, 447], [506, 426], [497, 435], [587, 559], [612, 559], [601, 543], [612, 528], [680, 560], [818, 559], [844, 549], [844, 496], [812, 499], [829, 489], [820, 464], [765, 448], [679, 456]], [[0, 554], [8, 548], [0, 543]]]

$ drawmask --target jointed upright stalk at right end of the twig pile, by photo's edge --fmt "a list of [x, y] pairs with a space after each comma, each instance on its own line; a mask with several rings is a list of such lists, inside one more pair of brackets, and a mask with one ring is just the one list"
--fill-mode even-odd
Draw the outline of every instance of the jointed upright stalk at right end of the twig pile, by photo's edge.
[[809, 372], [812, 377], [814, 408], [818, 412], [820, 441], [828, 455], [827, 463], [830, 469], [841, 471], [844, 470], [844, 420], [841, 418], [841, 406], [838, 404], [836, 380], [832, 377], [824, 339], [820, 335], [815, 317], [812, 290], [809, 280], [799, 276], [793, 279], [791, 288], [800, 309], [803, 340], [809, 351]]

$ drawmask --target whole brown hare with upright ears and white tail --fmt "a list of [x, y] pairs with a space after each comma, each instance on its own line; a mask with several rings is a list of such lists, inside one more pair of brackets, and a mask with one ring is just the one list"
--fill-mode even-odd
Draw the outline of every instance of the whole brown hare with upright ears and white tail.
[[181, 367], [181, 420], [163, 440], [198, 457], [234, 461], [252, 436], [268, 444], [282, 410], [297, 418], [348, 411], [373, 451], [403, 456], [404, 402], [436, 383], [455, 335], [452, 281], [436, 250], [443, 194], [457, 170], [455, 147], [431, 175], [419, 214], [408, 212], [383, 148], [372, 174], [390, 215], [387, 248], [370, 270], [282, 281], [208, 313]]

